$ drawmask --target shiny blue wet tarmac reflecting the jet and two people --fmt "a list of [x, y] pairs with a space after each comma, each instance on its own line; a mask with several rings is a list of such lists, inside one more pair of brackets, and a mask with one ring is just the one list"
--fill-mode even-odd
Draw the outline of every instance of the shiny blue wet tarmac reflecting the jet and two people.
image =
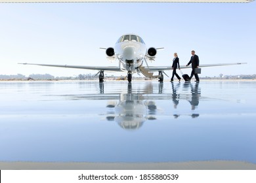
[[0, 161], [256, 163], [256, 83], [0, 82]]

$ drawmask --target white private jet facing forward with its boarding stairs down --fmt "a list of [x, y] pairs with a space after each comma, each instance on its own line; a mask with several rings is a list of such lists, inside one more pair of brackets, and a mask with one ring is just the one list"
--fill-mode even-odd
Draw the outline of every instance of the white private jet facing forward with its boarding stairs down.
[[[99, 82], [104, 81], [104, 71], [106, 72], [126, 72], [128, 82], [132, 81], [132, 75], [140, 73], [148, 78], [158, 78], [160, 82], [163, 82], [163, 74], [165, 71], [171, 70], [171, 66], [149, 66], [148, 61], [154, 61], [158, 50], [163, 48], [147, 48], [145, 42], [139, 35], [125, 34], [119, 37], [114, 47], [100, 48], [105, 50], [106, 59], [109, 61], [119, 61], [118, 66], [81, 66], [81, 65], [51, 65], [51, 64], [39, 64], [39, 63], [19, 63], [24, 65], [40, 65], [47, 67], [65, 67], [74, 69], [90, 69], [96, 70], [98, 73]], [[200, 67], [214, 67], [223, 65], [240, 65], [242, 63], [218, 63], [218, 64], [206, 64], [200, 65]], [[186, 65], [181, 65], [181, 69], [188, 68]], [[154, 72], [158, 72], [158, 75], [154, 75]], [[166, 75], [166, 74], [165, 74]], [[166, 75], [167, 76], [167, 75]]]

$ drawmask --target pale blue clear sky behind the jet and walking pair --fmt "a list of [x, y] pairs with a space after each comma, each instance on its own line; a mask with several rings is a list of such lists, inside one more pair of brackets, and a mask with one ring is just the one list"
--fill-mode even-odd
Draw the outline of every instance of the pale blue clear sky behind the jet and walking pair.
[[[150, 65], [181, 65], [196, 50], [201, 64], [247, 62], [203, 68], [202, 76], [256, 74], [256, 2], [252, 3], [20, 3], [0, 4], [0, 75], [74, 76], [96, 73], [18, 65], [18, 62], [117, 65], [100, 47], [125, 33], [148, 47], [164, 47]], [[167, 72], [171, 73], [171, 71]], [[184, 70], [190, 73], [190, 69]]]

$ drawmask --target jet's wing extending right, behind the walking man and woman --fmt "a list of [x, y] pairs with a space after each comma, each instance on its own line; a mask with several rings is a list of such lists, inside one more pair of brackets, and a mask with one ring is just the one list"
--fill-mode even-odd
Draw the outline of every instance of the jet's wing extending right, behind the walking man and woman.
[[[241, 65], [241, 64], [246, 64], [246, 63], [216, 63], [216, 64], [205, 64], [205, 65], [199, 65], [199, 67], [215, 67], [215, 66], [224, 66], [224, 65]], [[191, 65], [181, 65], [181, 69], [188, 69], [191, 68]], [[171, 70], [171, 66], [149, 66], [148, 68], [149, 71], [156, 72], [156, 71], [167, 71]]]

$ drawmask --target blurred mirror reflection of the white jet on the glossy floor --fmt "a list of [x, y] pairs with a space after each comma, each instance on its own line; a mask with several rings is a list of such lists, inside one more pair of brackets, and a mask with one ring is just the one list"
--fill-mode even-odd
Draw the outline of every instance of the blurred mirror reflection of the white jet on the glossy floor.
[[[144, 86], [144, 87], [143, 87]], [[65, 95], [72, 100], [106, 100], [106, 120], [115, 121], [123, 129], [138, 129], [146, 120], [156, 120], [158, 108], [156, 100], [170, 100], [170, 94], [162, 94], [163, 83], [158, 84], [158, 92], [154, 92], [151, 82], [143, 88], [132, 88], [127, 84], [127, 92], [105, 93], [104, 83], [99, 83], [96, 94]], [[138, 90], [138, 92], [137, 92]]]

